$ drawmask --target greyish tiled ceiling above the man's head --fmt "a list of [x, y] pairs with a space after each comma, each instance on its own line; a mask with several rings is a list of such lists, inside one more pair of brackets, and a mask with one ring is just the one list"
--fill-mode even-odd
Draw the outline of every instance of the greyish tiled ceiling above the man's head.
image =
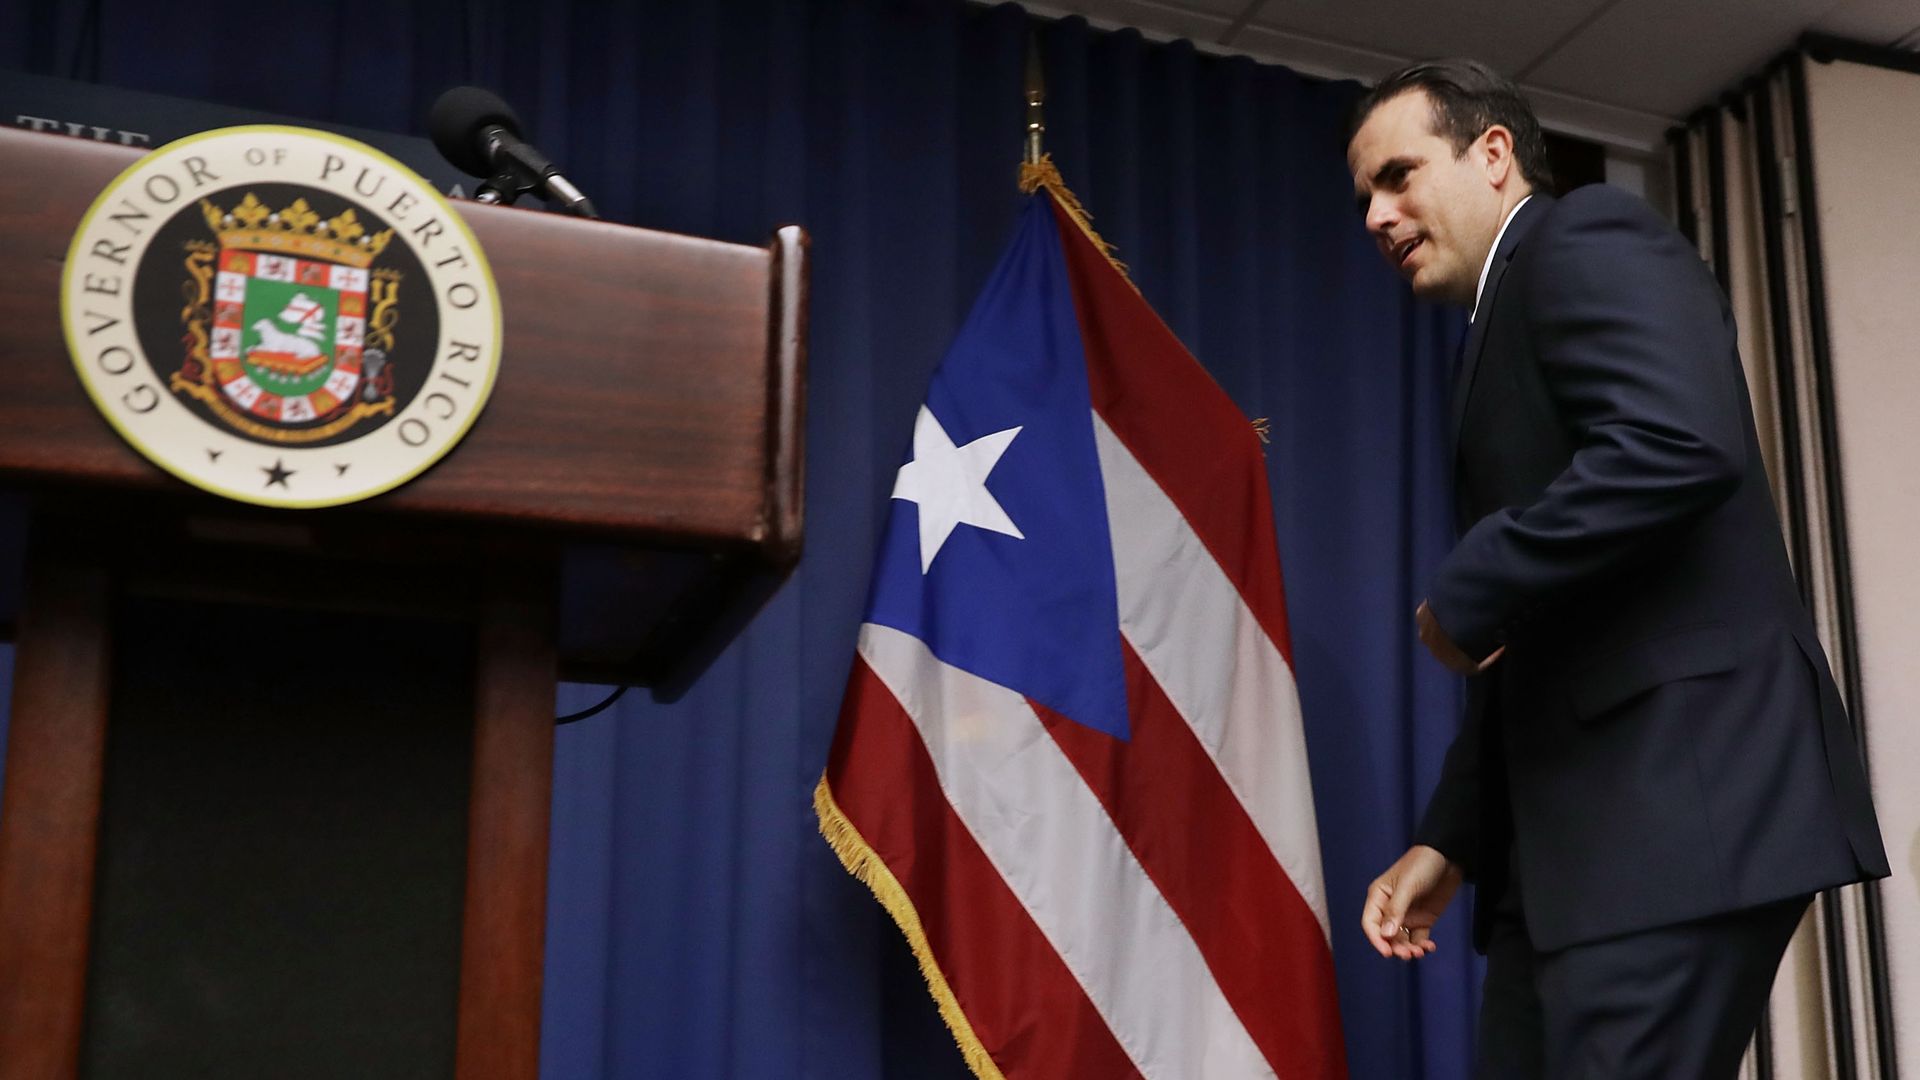
[[1805, 31], [1920, 44], [1920, 0], [1044, 0], [1152, 38], [1190, 38], [1327, 77], [1377, 79], [1409, 60], [1475, 56], [1513, 75], [1542, 123], [1626, 152]]

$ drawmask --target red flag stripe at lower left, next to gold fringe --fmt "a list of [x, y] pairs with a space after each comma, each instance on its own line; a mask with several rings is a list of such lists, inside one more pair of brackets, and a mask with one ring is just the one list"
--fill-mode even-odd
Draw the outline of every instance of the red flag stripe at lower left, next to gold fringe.
[[1139, 1076], [1079, 980], [947, 803], [912, 717], [858, 657], [828, 784], [912, 897], [947, 984], [1008, 1078]]

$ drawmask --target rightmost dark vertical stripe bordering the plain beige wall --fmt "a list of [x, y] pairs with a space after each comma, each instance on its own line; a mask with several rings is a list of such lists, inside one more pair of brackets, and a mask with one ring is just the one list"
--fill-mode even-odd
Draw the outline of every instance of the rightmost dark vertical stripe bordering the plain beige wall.
[[[1847, 680], [1847, 703], [1853, 734], [1866, 755], [1866, 698], [1860, 682], [1860, 630], [1853, 611], [1853, 555], [1847, 542], [1847, 494], [1839, 467], [1839, 415], [1834, 407], [1834, 354], [1826, 321], [1826, 261], [1820, 252], [1820, 215], [1812, 179], [1812, 138], [1807, 119], [1807, 60], [1788, 58], [1788, 90], [1793, 100], [1793, 165], [1801, 204], [1801, 244], [1807, 252], [1807, 321], [1812, 338], [1814, 405], [1820, 415], [1820, 475], [1826, 480], [1826, 515], [1834, 538], [1834, 600], [1837, 607], [1836, 634], [1841, 640], [1841, 673]], [[1874, 1049], [1880, 1055], [1882, 1080], [1899, 1080], [1899, 1051], [1893, 1043], [1891, 986], [1887, 984], [1887, 928], [1880, 909], [1880, 882], [1860, 886], [1860, 909], [1866, 920], [1866, 978], [1874, 1003]], [[1851, 1032], [1849, 1032], [1851, 1034]], [[1851, 1040], [1849, 1040], [1851, 1042]]]

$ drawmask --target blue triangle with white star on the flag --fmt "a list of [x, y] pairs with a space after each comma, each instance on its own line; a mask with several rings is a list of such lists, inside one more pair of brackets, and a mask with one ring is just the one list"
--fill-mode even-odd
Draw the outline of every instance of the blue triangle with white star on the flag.
[[[1035, 194], [933, 373], [874, 567], [868, 621], [1127, 738], [1106, 490], [1058, 229], [1050, 196]], [[981, 492], [977, 471], [989, 461]]]

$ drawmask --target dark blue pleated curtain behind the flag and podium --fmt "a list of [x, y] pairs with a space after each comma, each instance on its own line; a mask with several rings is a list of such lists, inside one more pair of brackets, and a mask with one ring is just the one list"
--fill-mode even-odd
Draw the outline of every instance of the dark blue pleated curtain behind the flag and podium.
[[[914, 409], [1020, 206], [1021, 65], [1048, 148], [1146, 298], [1250, 417], [1273, 503], [1352, 1074], [1467, 1074], [1461, 913], [1417, 967], [1359, 938], [1457, 686], [1411, 611], [1450, 542], [1457, 313], [1415, 304], [1352, 211], [1352, 83], [958, 0], [60, 0], [0, 10], [0, 63], [422, 131], [495, 86], [612, 219], [812, 234], [806, 557], [684, 701], [559, 736], [543, 1074], [964, 1076], [906, 949], [814, 832], [868, 561]], [[509, 357], [511, 363], [511, 357]], [[599, 688], [564, 686], [561, 709]]]

